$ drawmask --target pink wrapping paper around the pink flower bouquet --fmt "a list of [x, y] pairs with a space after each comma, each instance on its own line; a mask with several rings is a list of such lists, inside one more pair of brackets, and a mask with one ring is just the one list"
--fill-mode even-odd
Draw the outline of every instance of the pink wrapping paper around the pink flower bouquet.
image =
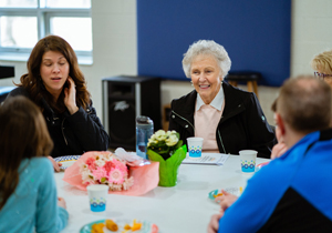
[[[122, 150], [121, 150], [122, 151]], [[80, 164], [94, 156], [94, 154], [110, 153], [108, 151], [100, 152], [92, 151], [84, 153], [73, 165], [68, 168], [64, 172], [63, 181], [76, 186], [80, 190], [86, 191], [86, 184], [82, 183], [82, 175], [80, 173]], [[133, 154], [129, 154], [133, 155]], [[129, 156], [128, 155], [128, 156]], [[155, 189], [159, 182], [159, 162], [145, 162], [138, 166], [128, 168], [129, 176], [134, 178], [134, 185], [126, 191], [108, 191], [108, 194], [118, 195], [143, 195]]]

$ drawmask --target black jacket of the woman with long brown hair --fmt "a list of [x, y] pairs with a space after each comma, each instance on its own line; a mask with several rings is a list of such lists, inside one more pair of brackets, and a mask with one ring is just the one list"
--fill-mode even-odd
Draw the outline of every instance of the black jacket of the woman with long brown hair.
[[[12, 90], [8, 98], [15, 95], [29, 98], [24, 88]], [[79, 111], [71, 115], [68, 110], [61, 114], [55, 113], [43, 100], [43, 115], [54, 143], [51, 153], [53, 158], [107, 150], [110, 138], [92, 107], [92, 101], [86, 110], [79, 107]]]

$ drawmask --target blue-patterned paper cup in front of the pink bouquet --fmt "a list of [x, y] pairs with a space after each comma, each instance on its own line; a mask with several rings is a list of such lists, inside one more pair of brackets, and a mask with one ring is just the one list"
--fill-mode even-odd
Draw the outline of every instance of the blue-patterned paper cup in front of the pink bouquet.
[[106, 210], [106, 199], [108, 193], [108, 186], [105, 184], [91, 184], [86, 186], [90, 210], [92, 212], [103, 212]]

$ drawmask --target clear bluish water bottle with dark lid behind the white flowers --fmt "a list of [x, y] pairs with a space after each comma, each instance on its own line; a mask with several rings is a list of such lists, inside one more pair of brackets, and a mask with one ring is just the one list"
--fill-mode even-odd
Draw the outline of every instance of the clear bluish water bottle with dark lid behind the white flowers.
[[154, 134], [154, 122], [147, 116], [136, 118], [136, 154], [143, 159], [148, 159], [146, 148], [148, 139]]

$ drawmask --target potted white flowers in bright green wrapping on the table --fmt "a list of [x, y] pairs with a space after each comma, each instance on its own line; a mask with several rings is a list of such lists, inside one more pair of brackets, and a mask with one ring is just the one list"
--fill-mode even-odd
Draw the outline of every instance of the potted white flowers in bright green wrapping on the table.
[[159, 186], [175, 186], [177, 171], [186, 158], [187, 148], [179, 140], [176, 131], [158, 130], [147, 143], [147, 155], [152, 161], [159, 162]]

